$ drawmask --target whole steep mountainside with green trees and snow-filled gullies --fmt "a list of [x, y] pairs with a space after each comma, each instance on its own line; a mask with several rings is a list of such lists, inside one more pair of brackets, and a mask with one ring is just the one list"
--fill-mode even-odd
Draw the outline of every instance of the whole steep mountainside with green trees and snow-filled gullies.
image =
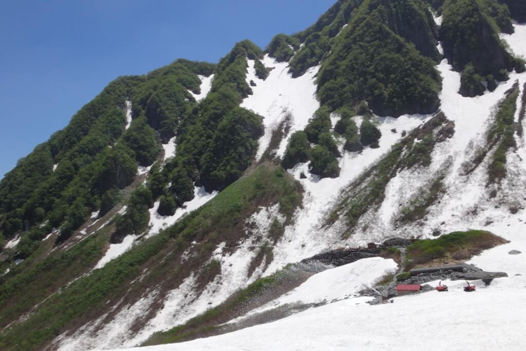
[[[489, 65], [515, 70], [477, 97], [458, 93], [467, 68], [453, 64], [474, 53], [440, 61], [449, 39], [419, 0], [341, 0], [266, 53], [243, 41], [217, 65], [117, 79], [0, 183], [0, 348], [214, 327], [326, 269], [282, 275], [329, 248], [469, 228], [513, 244], [526, 73], [484, 4], [464, 28], [444, 2], [438, 30], [488, 34], [513, 63]], [[513, 29], [501, 38], [526, 55]]]

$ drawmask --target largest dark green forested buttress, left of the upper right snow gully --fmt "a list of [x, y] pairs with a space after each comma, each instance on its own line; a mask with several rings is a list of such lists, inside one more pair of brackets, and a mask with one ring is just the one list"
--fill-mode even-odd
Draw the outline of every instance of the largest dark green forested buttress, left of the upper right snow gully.
[[[393, 28], [409, 14], [417, 17], [408, 21], [430, 26], [427, 10], [413, 1], [371, 0], [353, 13], [351, 23], [338, 36], [321, 67], [321, 104], [336, 109], [365, 100], [373, 112], [384, 116], [436, 111], [440, 75], [435, 63]], [[434, 38], [428, 42], [434, 45]]]

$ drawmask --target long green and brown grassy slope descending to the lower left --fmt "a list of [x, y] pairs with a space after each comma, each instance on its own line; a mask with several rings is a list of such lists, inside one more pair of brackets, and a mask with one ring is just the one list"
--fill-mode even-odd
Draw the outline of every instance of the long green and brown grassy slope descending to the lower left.
[[[237, 242], [242, 238], [245, 234], [242, 229], [244, 220], [254, 213], [258, 206], [268, 206], [276, 202], [281, 204], [284, 214], [290, 218], [294, 208], [301, 202], [300, 187], [282, 168], [261, 165], [251, 175], [239, 179], [175, 226], [134, 246], [102, 269], [94, 270], [93, 273], [64, 286], [59, 293], [42, 302], [23, 322], [4, 329], [0, 334], [0, 349], [41, 348], [66, 330], [78, 328], [88, 320], [102, 315], [107, 310], [108, 305], [105, 303], [108, 299], [116, 304], [124, 296], [136, 298], [140, 295], [133, 295], [134, 293], [144, 292], [148, 287], [152, 287], [151, 284], [172, 280], [166, 279], [167, 274], [173, 275], [174, 282], [180, 281], [189, 272], [185, 275], [179, 259], [175, 258], [178, 258], [193, 240], [204, 244], [199, 245], [198, 262], [194, 262], [195, 265], [202, 265], [217, 244], [223, 241]], [[99, 237], [94, 235], [83, 243], [85, 244], [76, 245], [57, 257], [49, 257], [43, 263], [44, 268], [37, 266], [38, 270], [28, 270], [19, 275], [13, 283], [7, 282], [2, 285], [0, 298], [13, 298], [21, 284], [26, 284], [29, 292], [31, 287], [35, 287], [36, 280], [47, 282], [48, 279], [56, 279], [63, 272], [67, 272], [67, 269], [73, 269], [77, 265], [93, 266], [100, 255], [104, 240], [99, 240]], [[91, 256], [90, 253], [93, 252], [97, 255]], [[87, 256], [86, 260], [78, 261], [84, 256]], [[167, 257], [171, 259], [164, 261], [163, 258]], [[129, 282], [140, 276], [145, 268], [150, 268], [148, 275], [141, 282], [134, 284], [133, 289], [128, 292]], [[37, 291], [42, 288], [39, 285], [36, 287]], [[45, 295], [47, 292], [42, 293]], [[31, 301], [40, 302], [43, 294]], [[26, 304], [23, 310], [13, 310], [13, 307], [7, 306], [3, 307], [0, 313], [13, 319], [15, 315], [19, 316], [30, 307], [29, 302]]]

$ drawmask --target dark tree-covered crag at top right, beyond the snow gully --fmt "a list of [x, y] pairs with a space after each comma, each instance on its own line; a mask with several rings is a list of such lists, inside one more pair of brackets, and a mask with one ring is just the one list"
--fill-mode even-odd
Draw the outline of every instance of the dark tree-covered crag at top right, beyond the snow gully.
[[[501, 18], [502, 25], [504, 12], [497, 3], [485, 0], [446, 0], [442, 6], [440, 38], [444, 56], [456, 71], [468, 68], [461, 87], [461, 93], [467, 96], [481, 94], [475, 73], [481, 77], [491, 74], [498, 81], [504, 81], [506, 71], [513, 68], [524, 71], [524, 64], [513, 58], [499, 39], [499, 28], [492, 14]], [[473, 66], [474, 72], [468, 65]]]

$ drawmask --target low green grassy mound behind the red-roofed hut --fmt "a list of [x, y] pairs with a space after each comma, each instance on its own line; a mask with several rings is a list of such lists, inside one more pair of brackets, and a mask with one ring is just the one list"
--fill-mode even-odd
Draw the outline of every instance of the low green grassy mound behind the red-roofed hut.
[[468, 230], [467, 232], [453, 232], [442, 235], [437, 239], [418, 240], [407, 248], [409, 265], [406, 269], [417, 264], [424, 264], [430, 260], [443, 257], [452, 259], [469, 259], [478, 255], [482, 250], [505, 243], [501, 237], [485, 230]]

